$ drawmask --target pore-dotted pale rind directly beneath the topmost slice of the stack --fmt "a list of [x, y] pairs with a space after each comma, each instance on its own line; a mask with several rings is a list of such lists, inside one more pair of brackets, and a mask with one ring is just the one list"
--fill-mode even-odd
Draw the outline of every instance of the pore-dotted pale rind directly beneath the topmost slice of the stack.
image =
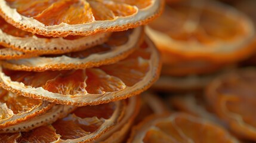
[[[2, 34], [1, 34], [2, 33]], [[109, 33], [99, 33], [98, 35], [85, 36], [79, 39], [63, 39], [63, 38], [37, 38], [35, 36], [29, 38], [20, 38], [0, 30], [0, 43], [7, 48], [12, 48], [27, 54], [63, 54], [66, 52], [81, 51], [91, 48], [92, 46], [100, 45], [107, 41]], [[1, 38], [1, 37], [4, 38]]]

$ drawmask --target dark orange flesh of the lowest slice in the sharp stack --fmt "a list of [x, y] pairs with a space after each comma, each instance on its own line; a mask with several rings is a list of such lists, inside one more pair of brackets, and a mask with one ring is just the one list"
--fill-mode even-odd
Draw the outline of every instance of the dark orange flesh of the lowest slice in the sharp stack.
[[98, 130], [104, 122], [103, 119], [109, 119], [116, 108], [113, 102], [79, 107], [69, 116], [57, 120], [52, 125], [41, 126], [29, 132], [2, 133], [0, 139], [10, 142], [54, 142], [58, 138], [63, 141], [81, 138]]

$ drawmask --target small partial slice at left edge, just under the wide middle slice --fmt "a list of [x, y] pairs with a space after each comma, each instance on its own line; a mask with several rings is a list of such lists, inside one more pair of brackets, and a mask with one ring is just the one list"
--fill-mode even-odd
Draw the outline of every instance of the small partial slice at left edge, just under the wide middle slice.
[[18, 96], [0, 88], [0, 130], [44, 114], [54, 104]]

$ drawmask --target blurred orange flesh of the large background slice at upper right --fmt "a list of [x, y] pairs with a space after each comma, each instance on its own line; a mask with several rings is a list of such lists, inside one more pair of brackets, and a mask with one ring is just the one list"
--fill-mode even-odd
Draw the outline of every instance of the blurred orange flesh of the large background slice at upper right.
[[[168, 34], [174, 40], [198, 41], [202, 45], [211, 45], [218, 40], [232, 41], [245, 34], [240, 24], [233, 24], [236, 21], [222, 11], [212, 11], [204, 8], [203, 4], [191, 7], [190, 1], [180, 3], [166, 7], [165, 13], [150, 23], [150, 27]], [[192, 31], [186, 29], [190, 21], [198, 22]]]

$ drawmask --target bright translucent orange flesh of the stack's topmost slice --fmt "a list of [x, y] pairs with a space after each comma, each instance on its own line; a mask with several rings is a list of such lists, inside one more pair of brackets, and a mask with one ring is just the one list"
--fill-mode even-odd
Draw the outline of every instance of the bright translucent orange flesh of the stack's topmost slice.
[[[133, 5], [145, 8], [151, 1], [9, 1], [11, 8], [26, 17], [33, 17], [46, 26], [60, 23], [82, 24], [94, 20], [113, 20], [115, 17], [125, 17], [136, 13]], [[92, 15], [94, 17], [92, 17]]]

